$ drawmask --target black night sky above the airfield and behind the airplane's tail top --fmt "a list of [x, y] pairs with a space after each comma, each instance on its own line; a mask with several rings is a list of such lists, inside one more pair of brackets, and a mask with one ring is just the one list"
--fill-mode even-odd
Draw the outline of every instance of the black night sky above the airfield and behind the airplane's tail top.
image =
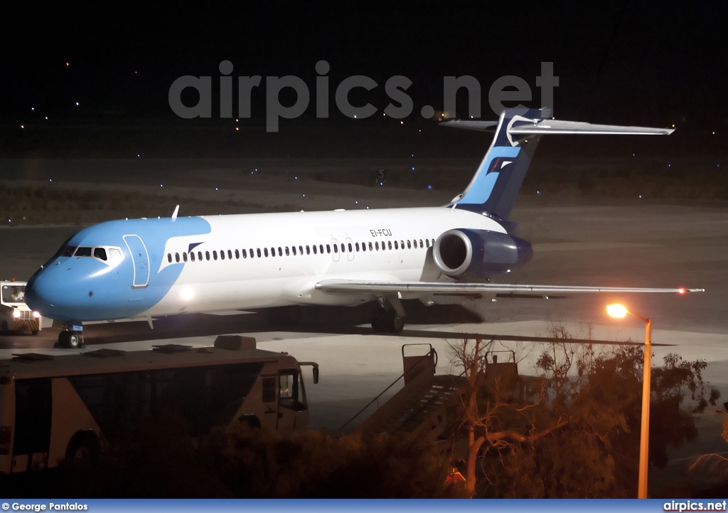
[[[488, 108], [488, 87], [504, 75], [525, 79], [534, 93], [534, 101], [526, 103], [539, 106], [536, 77], [542, 61], [553, 61], [560, 80], [554, 103], [561, 119], [676, 123], [679, 131], [694, 135], [728, 132], [728, 16], [723, 3], [362, 5], [271, 1], [230, 9], [95, 4], [4, 12], [0, 156], [47, 154], [48, 148], [52, 156], [79, 139], [96, 141], [84, 147], [104, 146], [106, 128], [125, 130], [122, 138], [135, 128], [144, 128], [152, 139], [166, 131], [164, 142], [151, 145], [165, 154], [175, 139], [170, 130], [234, 130], [215, 110], [222, 60], [233, 63], [232, 77], [304, 79], [312, 101], [299, 119], [282, 120], [281, 133], [288, 130], [289, 136], [301, 126], [380, 127], [381, 120], [355, 121], [336, 109], [336, 85], [355, 74], [373, 78], [379, 87], [352, 93], [352, 103], [369, 102], [379, 112], [389, 103], [387, 78], [411, 79], [407, 93], [414, 112], [407, 121], [418, 127], [424, 122], [422, 106], [443, 108], [446, 75], [479, 80], [483, 119], [495, 117]], [[331, 116], [317, 120], [314, 65], [322, 59], [331, 65]], [[183, 75], [213, 77], [211, 120], [181, 120], [171, 111], [167, 93]], [[186, 103], [188, 97], [195, 99], [187, 95]], [[457, 114], [462, 116], [467, 103], [458, 98]], [[282, 94], [281, 100], [293, 97]], [[265, 106], [263, 83], [253, 91], [251, 119], [241, 120], [244, 133], [264, 130]], [[35, 130], [35, 135], [20, 130]]]

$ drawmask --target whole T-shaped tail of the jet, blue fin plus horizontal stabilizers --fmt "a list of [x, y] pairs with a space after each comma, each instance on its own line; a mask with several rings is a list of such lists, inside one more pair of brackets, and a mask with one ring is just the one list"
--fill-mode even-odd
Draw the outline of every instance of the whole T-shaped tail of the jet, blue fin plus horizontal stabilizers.
[[462, 195], [448, 205], [467, 210], [487, 212], [507, 220], [513, 209], [518, 189], [529, 170], [531, 157], [540, 136], [544, 134], [622, 134], [633, 136], [669, 135], [669, 128], [592, 125], [585, 122], [549, 119], [550, 109], [505, 109], [498, 122], [448, 121], [443, 125], [472, 130], [492, 130], [493, 138], [480, 168]]

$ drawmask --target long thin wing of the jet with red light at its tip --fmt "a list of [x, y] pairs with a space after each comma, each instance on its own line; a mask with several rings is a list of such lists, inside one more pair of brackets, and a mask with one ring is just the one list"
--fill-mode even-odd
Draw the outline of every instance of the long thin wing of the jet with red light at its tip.
[[566, 285], [514, 285], [510, 283], [447, 283], [427, 281], [357, 281], [323, 280], [315, 285], [327, 294], [483, 294], [535, 293], [563, 294], [579, 292], [651, 292], [685, 294], [705, 289], [645, 289], [640, 287], [588, 287]]

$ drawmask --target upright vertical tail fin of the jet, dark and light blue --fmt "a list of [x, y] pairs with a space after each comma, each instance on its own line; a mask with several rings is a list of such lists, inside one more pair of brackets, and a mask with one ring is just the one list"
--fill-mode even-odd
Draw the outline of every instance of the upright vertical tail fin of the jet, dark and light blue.
[[[488, 212], [500, 219], [508, 219], [539, 141], [537, 135], [512, 134], [509, 130], [519, 125], [534, 125], [547, 117], [550, 117], [550, 109], [505, 109], [502, 112], [483, 162], [480, 162], [470, 185], [454, 201], [457, 208]], [[476, 122], [459, 123], [462, 128], [475, 130], [493, 125], [480, 122], [483, 124], [478, 127]]]

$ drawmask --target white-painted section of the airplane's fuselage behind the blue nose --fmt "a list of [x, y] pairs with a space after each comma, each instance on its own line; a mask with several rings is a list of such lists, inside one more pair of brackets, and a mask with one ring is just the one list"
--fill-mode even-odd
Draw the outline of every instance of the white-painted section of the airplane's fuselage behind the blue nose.
[[[203, 219], [210, 224], [209, 234], [167, 240], [162, 264], [151, 272], [175, 265], [178, 256], [187, 261], [170, 291], [145, 315], [283, 305], [357, 305], [372, 297], [324, 294], [314, 285], [323, 278], [435, 281], [441, 275], [432, 262], [431, 248], [443, 232], [456, 228], [505, 232], [486, 216], [443, 207]], [[198, 243], [191, 249], [192, 262], [189, 248]]]

